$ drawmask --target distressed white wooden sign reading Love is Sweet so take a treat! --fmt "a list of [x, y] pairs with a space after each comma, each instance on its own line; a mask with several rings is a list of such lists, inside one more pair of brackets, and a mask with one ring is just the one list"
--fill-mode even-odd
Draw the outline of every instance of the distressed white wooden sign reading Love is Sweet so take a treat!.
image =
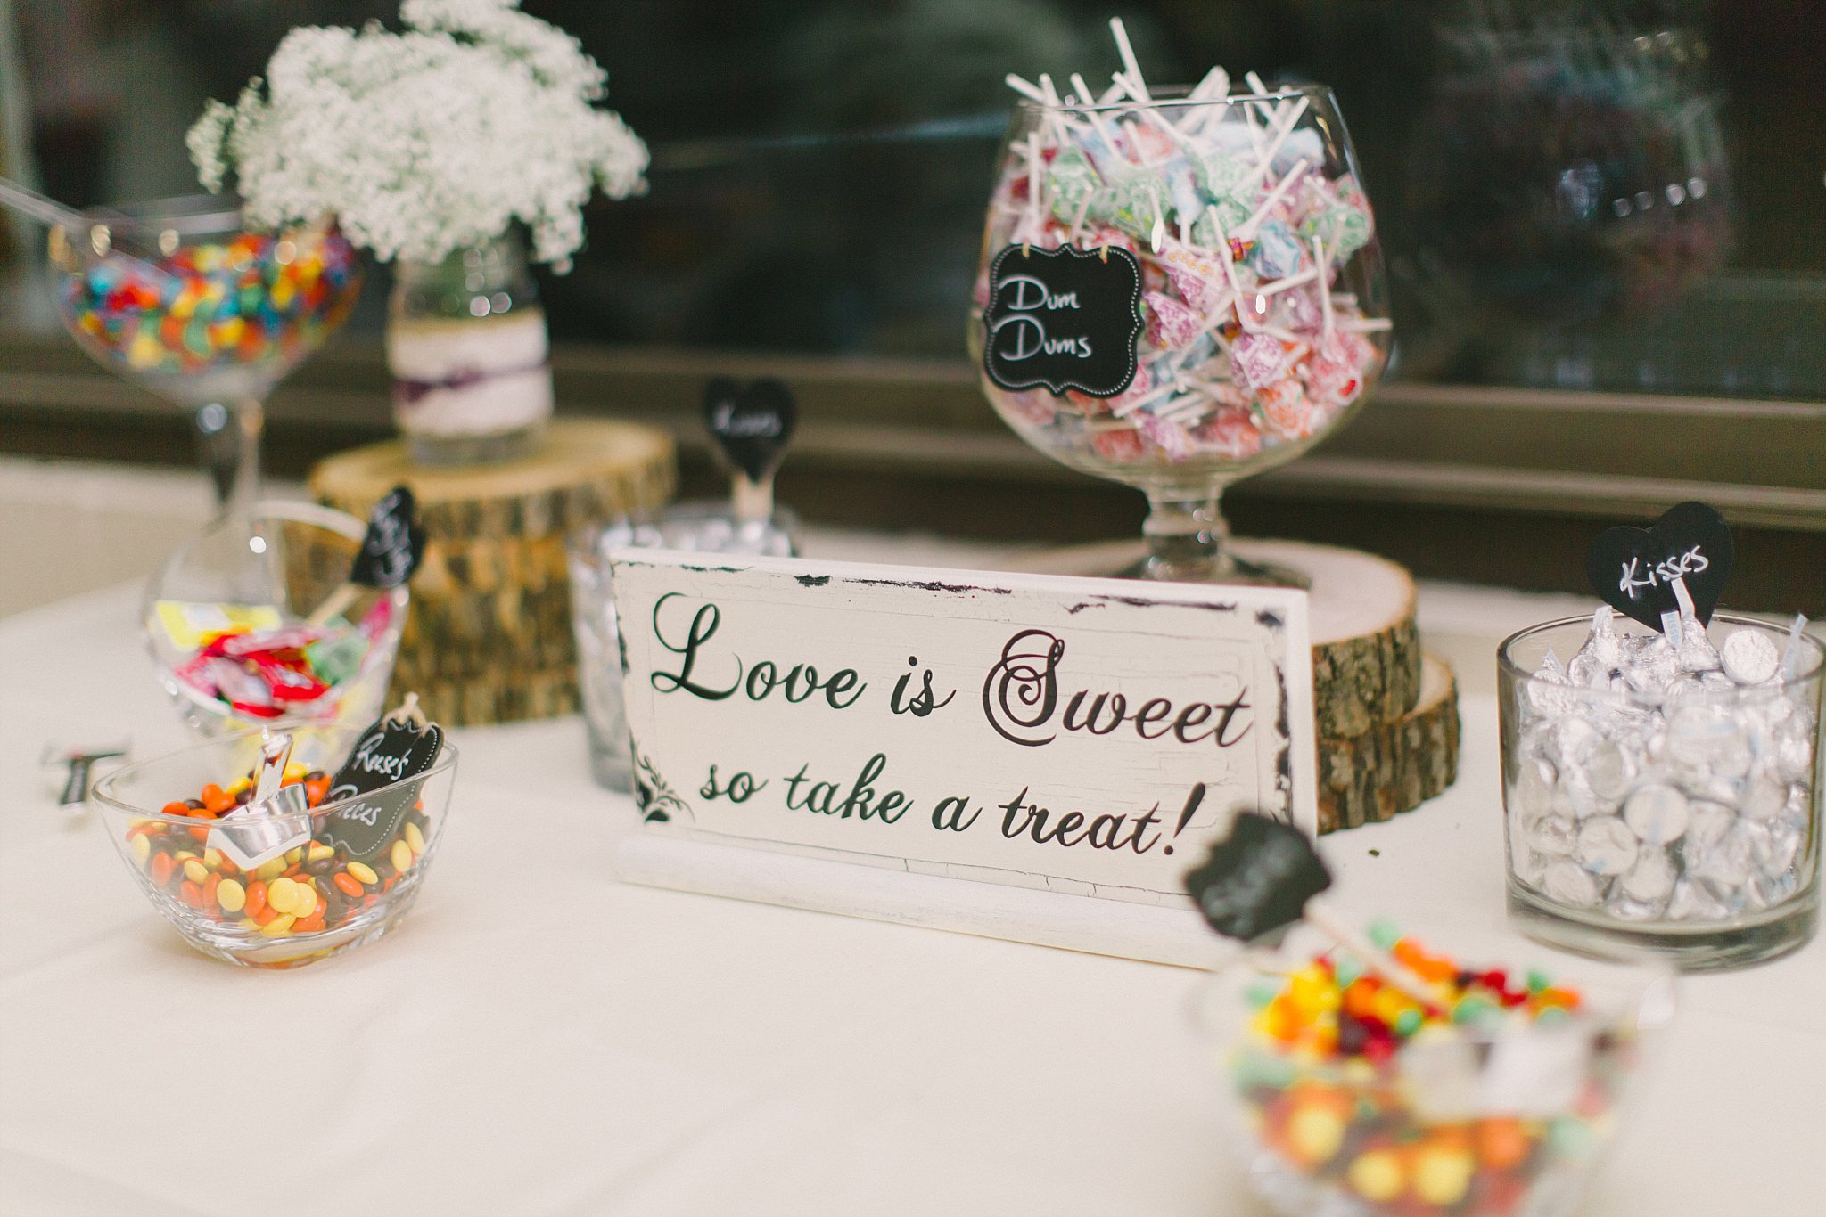
[[623, 878], [1200, 963], [1238, 808], [1317, 832], [1306, 595], [626, 549]]

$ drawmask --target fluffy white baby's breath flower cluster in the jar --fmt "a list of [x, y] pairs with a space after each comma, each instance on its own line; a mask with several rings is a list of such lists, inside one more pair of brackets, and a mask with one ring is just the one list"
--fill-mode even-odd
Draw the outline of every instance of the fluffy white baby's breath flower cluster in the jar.
[[608, 75], [520, 0], [405, 0], [405, 29], [307, 26], [234, 106], [210, 102], [186, 144], [208, 190], [230, 170], [245, 215], [334, 213], [389, 261], [433, 263], [515, 219], [533, 255], [570, 268], [582, 206], [646, 188], [646, 144], [597, 109]]

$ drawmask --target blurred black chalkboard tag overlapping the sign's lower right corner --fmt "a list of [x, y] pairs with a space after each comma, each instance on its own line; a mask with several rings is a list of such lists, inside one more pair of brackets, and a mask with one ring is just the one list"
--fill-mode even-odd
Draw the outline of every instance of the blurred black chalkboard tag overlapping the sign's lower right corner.
[[1293, 925], [1306, 901], [1328, 887], [1331, 872], [1311, 837], [1256, 812], [1238, 812], [1231, 836], [1185, 876], [1185, 890], [1211, 929], [1240, 941]]

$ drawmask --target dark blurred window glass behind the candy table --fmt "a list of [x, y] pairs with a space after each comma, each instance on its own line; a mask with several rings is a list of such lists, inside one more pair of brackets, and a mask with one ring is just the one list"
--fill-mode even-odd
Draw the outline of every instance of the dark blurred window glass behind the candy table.
[[[590, 208], [561, 341], [964, 358], [1006, 71], [1324, 80], [1410, 380], [1826, 398], [1826, 5], [528, 0], [610, 73], [652, 190]], [[0, 155], [75, 204], [186, 193], [183, 131], [363, 0], [0, 0]], [[29, 237], [37, 241], [37, 237]], [[0, 327], [55, 328], [26, 234]], [[5, 270], [9, 268], [9, 270]], [[378, 332], [385, 292], [356, 330]]]

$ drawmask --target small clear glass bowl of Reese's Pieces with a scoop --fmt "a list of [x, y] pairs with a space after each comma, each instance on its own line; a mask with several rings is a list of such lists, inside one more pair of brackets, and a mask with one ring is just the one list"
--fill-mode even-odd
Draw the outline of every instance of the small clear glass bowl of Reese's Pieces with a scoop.
[[360, 728], [281, 726], [283, 786], [305, 794], [285, 814], [245, 819], [263, 728], [122, 766], [89, 792], [164, 920], [203, 954], [245, 967], [301, 967], [393, 929], [431, 867], [456, 777], [446, 744], [422, 774], [331, 799]]

